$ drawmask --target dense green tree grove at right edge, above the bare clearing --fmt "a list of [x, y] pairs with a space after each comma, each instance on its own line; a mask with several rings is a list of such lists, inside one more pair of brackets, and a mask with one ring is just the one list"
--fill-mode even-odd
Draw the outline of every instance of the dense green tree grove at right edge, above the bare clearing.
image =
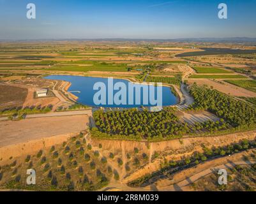
[[224, 119], [234, 128], [254, 128], [256, 108], [216, 90], [193, 85], [190, 93], [195, 99], [193, 110], [208, 110]]

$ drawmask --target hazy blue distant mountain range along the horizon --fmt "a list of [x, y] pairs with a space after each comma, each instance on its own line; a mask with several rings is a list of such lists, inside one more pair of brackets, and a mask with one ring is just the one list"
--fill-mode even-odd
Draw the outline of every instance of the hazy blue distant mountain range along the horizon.
[[176, 39], [143, 39], [143, 38], [97, 38], [97, 39], [38, 39], [38, 40], [0, 40], [0, 41], [149, 41], [149, 42], [213, 42], [213, 43], [256, 43], [256, 38], [176, 38]]

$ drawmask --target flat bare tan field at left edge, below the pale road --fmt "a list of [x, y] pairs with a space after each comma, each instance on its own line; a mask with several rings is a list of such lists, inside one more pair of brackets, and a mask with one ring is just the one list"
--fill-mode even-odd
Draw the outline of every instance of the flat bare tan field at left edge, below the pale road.
[[56, 135], [80, 133], [87, 128], [88, 122], [87, 115], [3, 121], [0, 122], [0, 147]]

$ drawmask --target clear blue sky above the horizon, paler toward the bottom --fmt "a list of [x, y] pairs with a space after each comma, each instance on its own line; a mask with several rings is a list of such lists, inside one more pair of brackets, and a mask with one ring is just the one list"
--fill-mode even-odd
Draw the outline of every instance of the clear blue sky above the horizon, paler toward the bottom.
[[[228, 19], [218, 18], [219, 3]], [[255, 38], [255, 25], [256, 0], [0, 0], [0, 39]]]

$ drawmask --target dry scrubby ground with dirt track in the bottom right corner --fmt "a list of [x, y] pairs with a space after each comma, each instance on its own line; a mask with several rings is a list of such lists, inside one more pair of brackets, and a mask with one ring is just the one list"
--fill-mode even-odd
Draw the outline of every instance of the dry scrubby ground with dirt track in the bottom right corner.
[[[157, 180], [156, 187], [163, 191], [255, 191], [255, 153], [255, 149], [246, 150], [185, 168]], [[227, 185], [218, 184], [220, 169], [227, 170]]]

